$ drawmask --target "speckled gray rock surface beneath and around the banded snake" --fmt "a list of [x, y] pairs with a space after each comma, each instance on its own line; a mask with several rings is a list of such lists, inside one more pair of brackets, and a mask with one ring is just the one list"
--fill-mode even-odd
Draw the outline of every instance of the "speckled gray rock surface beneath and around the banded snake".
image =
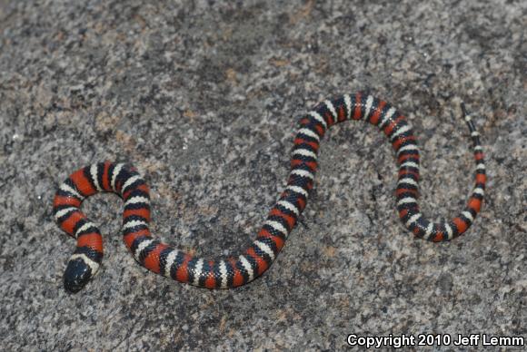
[[[527, 335], [525, 1], [181, 3], [0, 0], [5, 350]], [[104, 267], [81, 293], [65, 292], [75, 240], [55, 226], [51, 203], [71, 171], [133, 162], [152, 187], [154, 233], [227, 254], [254, 238], [282, 189], [297, 119], [357, 90], [413, 124], [423, 211], [436, 219], [470, 191], [458, 103], [470, 107], [489, 187], [465, 236], [436, 245], [403, 230], [389, 143], [348, 122], [323, 142], [307, 210], [263, 278], [209, 291], [147, 272], [121, 242], [121, 201], [99, 195], [85, 211], [104, 231]]]

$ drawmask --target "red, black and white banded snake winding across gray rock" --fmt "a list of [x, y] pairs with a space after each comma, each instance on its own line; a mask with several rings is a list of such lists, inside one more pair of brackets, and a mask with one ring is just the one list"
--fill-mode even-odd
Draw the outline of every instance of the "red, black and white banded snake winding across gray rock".
[[97, 273], [103, 259], [103, 237], [80, 210], [83, 200], [98, 192], [114, 192], [124, 201], [123, 240], [144, 268], [201, 288], [235, 288], [261, 276], [295, 227], [313, 190], [318, 152], [325, 132], [347, 120], [377, 126], [392, 143], [399, 167], [395, 190], [397, 211], [406, 229], [433, 242], [452, 240], [469, 229], [482, 208], [486, 172], [480, 134], [461, 103], [472, 139], [475, 185], [464, 209], [452, 220], [426, 220], [418, 205], [419, 148], [412, 126], [390, 103], [369, 93], [344, 94], [315, 105], [299, 119], [293, 140], [287, 184], [269, 211], [256, 239], [241, 254], [205, 259], [155, 239], [149, 230], [149, 187], [129, 163], [104, 161], [72, 173], [55, 193], [53, 214], [59, 227], [76, 239], [67, 262], [64, 286], [75, 293]]

